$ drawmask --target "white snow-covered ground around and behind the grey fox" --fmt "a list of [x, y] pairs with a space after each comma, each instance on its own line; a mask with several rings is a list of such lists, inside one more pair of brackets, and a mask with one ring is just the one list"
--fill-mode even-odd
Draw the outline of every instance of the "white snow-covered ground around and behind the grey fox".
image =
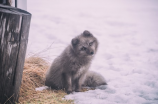
[[99, 40], [90, 70], [107, 86], [65, 96], [76, 104], [158, 104], [158, 0], [28, 0], [27, 55], [53, 61], [76, 35]]

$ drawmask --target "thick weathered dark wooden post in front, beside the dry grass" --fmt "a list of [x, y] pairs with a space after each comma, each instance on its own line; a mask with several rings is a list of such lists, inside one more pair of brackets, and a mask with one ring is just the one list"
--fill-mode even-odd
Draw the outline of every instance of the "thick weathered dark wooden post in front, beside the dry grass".
[[31, 14], [0, 5], [0, 104], [18, 102]]

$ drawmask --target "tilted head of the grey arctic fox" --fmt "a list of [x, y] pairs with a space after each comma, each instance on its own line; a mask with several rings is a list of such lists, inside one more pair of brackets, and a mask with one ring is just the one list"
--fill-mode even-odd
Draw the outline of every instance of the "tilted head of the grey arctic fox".
[[71, 41], [74, 53], [79, 57], [94, 56], [97, 48], [97, 39], [87, 30]]

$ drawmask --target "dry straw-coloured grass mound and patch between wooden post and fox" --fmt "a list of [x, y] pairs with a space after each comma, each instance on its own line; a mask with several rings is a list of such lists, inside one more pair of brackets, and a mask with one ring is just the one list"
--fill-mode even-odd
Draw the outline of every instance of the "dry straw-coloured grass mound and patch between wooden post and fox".
[[62, 100], [66, 93], [62, 90], [36, 91], [44, 86], [44, 76], [49, 64], [39, 57], [30, 57], [24, 64], [23, 78], [19, 94], [20, 104], [70, 104], [71, 100]]

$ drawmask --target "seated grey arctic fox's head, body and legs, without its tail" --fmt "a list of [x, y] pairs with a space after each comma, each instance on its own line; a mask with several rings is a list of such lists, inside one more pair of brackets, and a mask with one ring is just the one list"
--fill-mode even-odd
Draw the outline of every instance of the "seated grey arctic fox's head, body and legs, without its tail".
[[47, 71], [45, 85], [68, 94], [81, 91], [97, 48], [98, 40], [87, 30], [73, 38]]

